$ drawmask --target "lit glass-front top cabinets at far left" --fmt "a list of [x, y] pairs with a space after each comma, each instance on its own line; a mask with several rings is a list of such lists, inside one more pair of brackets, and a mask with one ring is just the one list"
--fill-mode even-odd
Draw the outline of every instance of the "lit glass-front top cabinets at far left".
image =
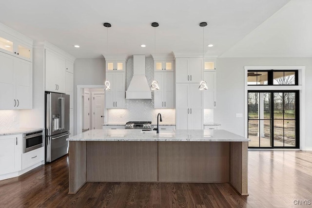
[[30, 42], [31, 44], [20, 41], [18, 38], [14, 38], [10, 34], [1, 31], [0, 28], [0, 52], [4, 52], [31, 62], [32, 40]]

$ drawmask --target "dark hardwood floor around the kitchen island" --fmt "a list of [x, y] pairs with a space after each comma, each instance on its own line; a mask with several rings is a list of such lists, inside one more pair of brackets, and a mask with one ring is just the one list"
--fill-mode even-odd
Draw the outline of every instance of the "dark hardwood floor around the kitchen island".
[[240, 196], [227, 183], [87, 183], [77, 194], [68, 195], [66, 155], [20, 177], [0, 181], [0, 208], [312, 207], [297, 205], [312, 201], [311, 151], [248, 154], [249, 196]]

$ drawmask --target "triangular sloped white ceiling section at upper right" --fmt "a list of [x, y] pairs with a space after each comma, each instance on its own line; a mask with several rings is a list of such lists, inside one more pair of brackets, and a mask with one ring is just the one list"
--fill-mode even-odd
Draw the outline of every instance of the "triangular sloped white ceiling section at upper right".
[[312, 57], [312, 0], [292, 0], [221, 57]]

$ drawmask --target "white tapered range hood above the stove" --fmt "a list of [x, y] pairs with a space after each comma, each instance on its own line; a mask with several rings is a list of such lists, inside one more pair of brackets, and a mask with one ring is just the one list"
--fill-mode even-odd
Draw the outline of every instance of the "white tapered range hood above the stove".
[[126, 91], [126, 99], [152, 99], [145, 76], [145, 55], [133, 55], [133, 77]]

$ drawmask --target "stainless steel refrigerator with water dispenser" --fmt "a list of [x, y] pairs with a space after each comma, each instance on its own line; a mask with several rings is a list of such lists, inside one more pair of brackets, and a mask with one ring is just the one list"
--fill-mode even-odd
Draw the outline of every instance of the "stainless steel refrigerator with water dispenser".
[[45, 161], [68, 153], [69, 95], [45, 92]]

